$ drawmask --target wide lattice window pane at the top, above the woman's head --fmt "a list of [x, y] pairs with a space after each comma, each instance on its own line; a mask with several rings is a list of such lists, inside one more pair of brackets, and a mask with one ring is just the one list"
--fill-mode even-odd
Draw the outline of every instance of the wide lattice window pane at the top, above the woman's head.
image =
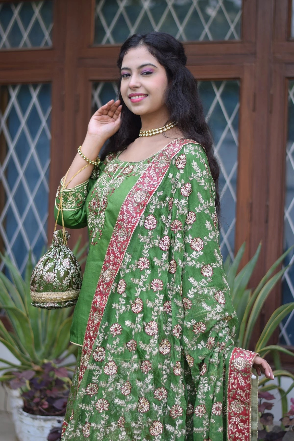
[[96, 0], [94, 44], [167, 32], [181, 41], [240, 40], [242, 0]]

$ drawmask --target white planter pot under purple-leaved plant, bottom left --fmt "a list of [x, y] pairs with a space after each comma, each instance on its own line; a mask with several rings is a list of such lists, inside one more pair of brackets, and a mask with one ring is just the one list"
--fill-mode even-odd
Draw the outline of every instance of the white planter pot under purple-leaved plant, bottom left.
[[15, 409], [15, 433], [20, 441], [47, 441], [53, 427], [60, 426], [63, 417], [31, 415]]

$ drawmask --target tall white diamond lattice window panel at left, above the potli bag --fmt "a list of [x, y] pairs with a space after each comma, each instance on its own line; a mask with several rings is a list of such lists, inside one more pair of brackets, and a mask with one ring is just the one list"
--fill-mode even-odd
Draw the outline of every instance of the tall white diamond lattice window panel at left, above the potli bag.
[[1, 86], [0, 95], [0, 236], [23, 273], [29, 250], [35, 260], [47, 243], [51, 84]]

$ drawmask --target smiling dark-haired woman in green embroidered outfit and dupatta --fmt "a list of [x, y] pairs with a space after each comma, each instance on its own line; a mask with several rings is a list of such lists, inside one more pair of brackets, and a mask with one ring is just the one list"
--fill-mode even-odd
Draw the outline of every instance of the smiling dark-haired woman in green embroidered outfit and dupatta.
[[94, 113], [81, 146], [96, 163], [108, 140], [106, 151], [67, 185], [86, 164], [77, 154], [65, 179], [65, 226], [87, 225], [90, 246], [63, 440], [257, 439], [254, 373], [272, 369], [234, 347], [219, 167], [185, 64], [169, 34], [129, 37], [119, 100]]

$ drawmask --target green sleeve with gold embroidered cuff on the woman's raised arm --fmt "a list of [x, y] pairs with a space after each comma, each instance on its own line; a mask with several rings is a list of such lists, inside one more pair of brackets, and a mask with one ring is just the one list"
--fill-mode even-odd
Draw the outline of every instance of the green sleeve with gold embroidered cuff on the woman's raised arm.
[[[99, 177], [102, 169], [104, 168], [103, 162], [100, 162], [93, 168], [92, 174], [85, 182], [76, 185], [72, 188], [63, 188], [62, 194], [62, 212], [63, 221], [66, 228], [83, 228], [87, 225], [86, 216], [86, 198], [89, 192], [95, 185], [97, 178]], [[57, 188], [55, 205], [54, 205], [54, 218], [56, 220], [58, 208], [60, 204], [60, 192], [63, 187], [63, 178], [60, 180], [60, 184]], [[58, 216], [57, 224], [62, 225], [61, 212]]]

